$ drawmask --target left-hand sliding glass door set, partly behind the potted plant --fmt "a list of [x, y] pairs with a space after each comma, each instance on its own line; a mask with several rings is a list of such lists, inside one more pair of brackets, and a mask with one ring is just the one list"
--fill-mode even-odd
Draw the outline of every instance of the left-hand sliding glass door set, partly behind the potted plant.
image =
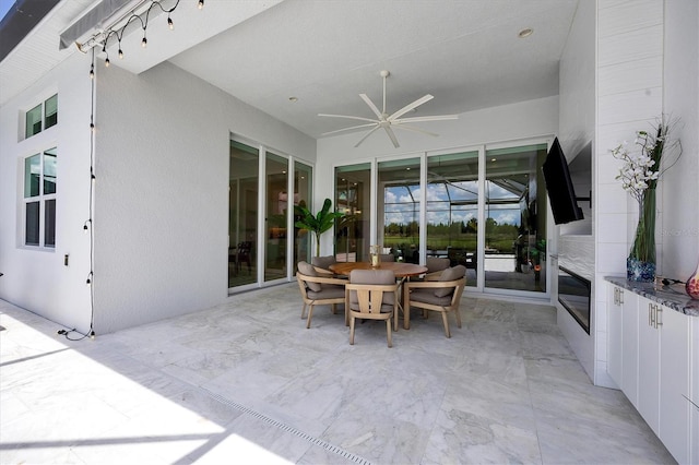
[[230, 141], [229, 163], [228, 288], [291, 278], [310, 260], [310, 237], [294, 223], [298, 205], [310, 205], [312, 167], [240, 141]]

